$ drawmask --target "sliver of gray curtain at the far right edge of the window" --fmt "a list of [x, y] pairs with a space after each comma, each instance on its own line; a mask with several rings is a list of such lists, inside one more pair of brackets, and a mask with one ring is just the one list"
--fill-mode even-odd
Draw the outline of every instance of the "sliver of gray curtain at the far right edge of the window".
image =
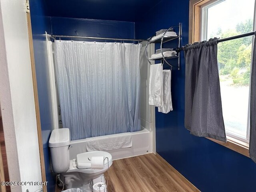
[[251, 69], [251, 95], [250, 95], [250, 158], [256, 162], [256, 38], [254, 38]]

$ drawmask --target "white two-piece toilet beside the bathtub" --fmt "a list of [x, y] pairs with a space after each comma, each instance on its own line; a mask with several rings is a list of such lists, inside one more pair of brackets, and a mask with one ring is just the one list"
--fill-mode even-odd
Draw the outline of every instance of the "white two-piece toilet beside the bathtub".
[[[105, 151], [84, 152], [70, 160], [70, 132], [68, 128], [52, 130], [49, 148], [52, 169], [66, 185], [66, 189], [80, 188], [83, 192], [90, 192], [91, 186], [97, 182], [105, 182], [104, 172], [112, 165], [112, 155]], [[104, 156], [104, 168], [92, 169], [92, 157]], [[90, 183], [90, 181], [92, 183]]]

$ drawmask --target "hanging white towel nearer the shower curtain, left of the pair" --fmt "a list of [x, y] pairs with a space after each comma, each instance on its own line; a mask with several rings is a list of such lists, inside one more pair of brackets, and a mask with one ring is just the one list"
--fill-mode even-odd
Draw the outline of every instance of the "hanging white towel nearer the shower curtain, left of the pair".
[[162, 106], [163, 101], [163, 65], [150, 65], [148, 104]]

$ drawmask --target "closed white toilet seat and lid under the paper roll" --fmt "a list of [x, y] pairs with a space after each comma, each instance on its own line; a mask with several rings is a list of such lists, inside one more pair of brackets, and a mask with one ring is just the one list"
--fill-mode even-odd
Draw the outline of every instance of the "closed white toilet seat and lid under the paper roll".
[[[104, 156], [104, 158], [108, 157], [108, 159], [104, 160], [104, 168], [103, 169], [92, 169], [91, 165], [89, 164], [92, 156]], [[91, 151], [91, 152], [84, 152], [77, 154], [76, 165], [74, 165], [74, 161], [70, 160], [69, 169], [66, 171], [68, 172], [81, 172], [86, 174], [94, 174], [98, 172], [104, 172], [108, 167], [112, 165], [112, 155], [105, 151]], [[85, 163], [85, 168], [78, 168], [78, 164]], [[79, 166], [80, 167], [80, 166]]]

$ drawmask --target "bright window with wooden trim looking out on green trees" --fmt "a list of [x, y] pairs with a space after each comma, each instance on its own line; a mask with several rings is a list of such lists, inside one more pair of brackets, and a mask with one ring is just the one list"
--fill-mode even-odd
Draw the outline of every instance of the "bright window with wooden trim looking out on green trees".
[[[254, 30], [255, 0], [190, 0], [190, 42]], [[227, 136], [249, 142], [253, 36], [220, 42], [218, 69]]]

